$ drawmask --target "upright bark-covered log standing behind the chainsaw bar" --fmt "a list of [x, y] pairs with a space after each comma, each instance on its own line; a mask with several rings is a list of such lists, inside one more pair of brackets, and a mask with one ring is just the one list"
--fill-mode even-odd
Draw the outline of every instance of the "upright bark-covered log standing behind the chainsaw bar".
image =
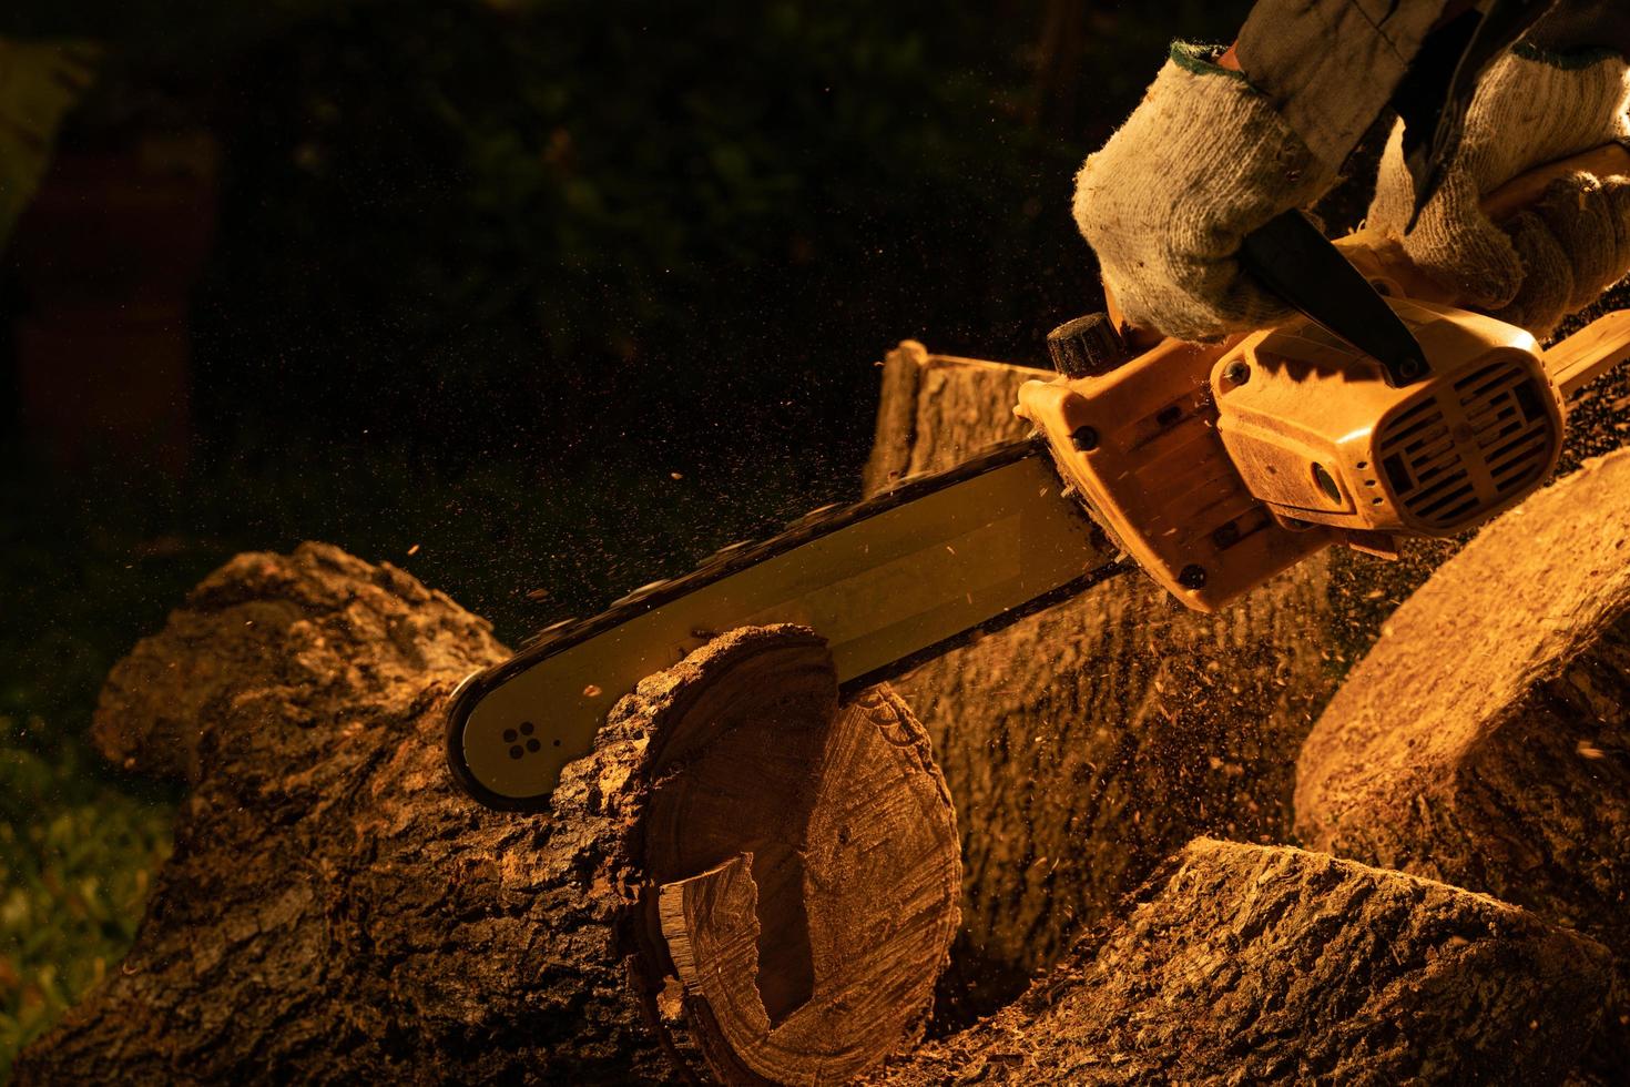
[[[901, 344], [869, 489], [1022, 437], [1017, 388], [1051, 376]], [[1325, 569], [1314, 559], [1219, 616], [1123, 575], [895, 683], [962, 830], [947, 1002], [994, 1009], [1198, 833], [1284, 839], [1294, 753], [1333, 686]]]

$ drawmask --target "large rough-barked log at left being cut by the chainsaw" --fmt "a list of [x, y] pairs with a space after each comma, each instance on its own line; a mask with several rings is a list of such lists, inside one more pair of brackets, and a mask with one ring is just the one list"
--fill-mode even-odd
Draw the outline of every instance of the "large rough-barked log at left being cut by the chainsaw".
[[[135, 947], [18, 1061], [62, 1082], [831, 1082], [916, 1036], [955, 821], [887, 689], [734, 631], [647, 678], [553, 810], [442, 764], [487, 624], [306, 544], [207, 579], [95, 735], [191, 794]], [[771, 1028], [776, 1030], [771, 1030]]]

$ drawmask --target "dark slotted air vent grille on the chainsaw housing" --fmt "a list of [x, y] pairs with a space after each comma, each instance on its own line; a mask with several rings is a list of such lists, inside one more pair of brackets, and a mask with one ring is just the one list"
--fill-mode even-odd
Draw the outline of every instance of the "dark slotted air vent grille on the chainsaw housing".
[[1537, 482], [1562, 437], [1545, 401], [1526, 367], [1496, 359], [1407, 404], [1376, 435], [1400, 512], [1454, 530]]

